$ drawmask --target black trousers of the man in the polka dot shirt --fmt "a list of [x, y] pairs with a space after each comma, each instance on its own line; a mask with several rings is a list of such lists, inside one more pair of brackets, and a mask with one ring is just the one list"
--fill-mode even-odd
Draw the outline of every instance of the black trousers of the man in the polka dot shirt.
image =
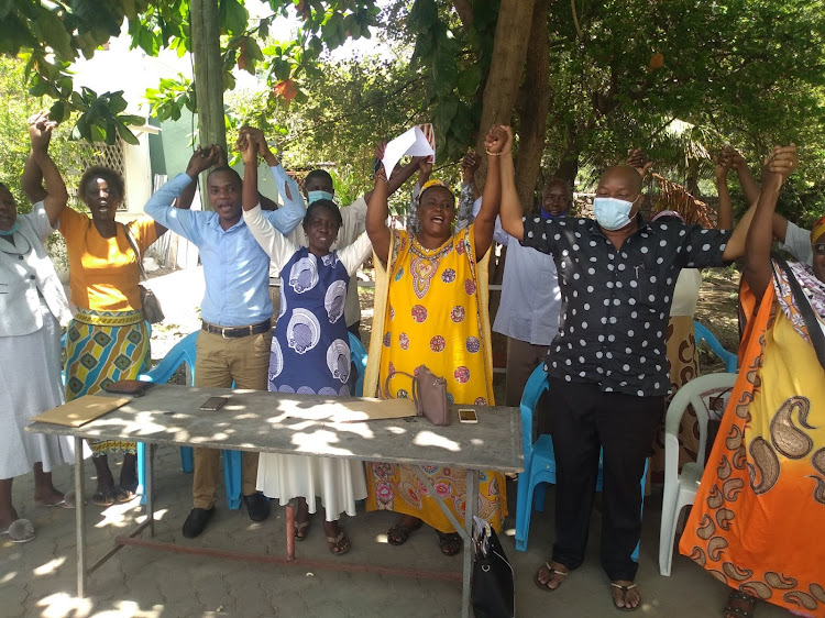
[[641, 475], [663, 397], [602, 393], [597, 384], [549, 378], [556, 451], [553, 561], [568, 569], [584, 562], [590, 516], [604, 450], [602, 567], [610, 581], [636, 577], [630, 558], [641, 533]]

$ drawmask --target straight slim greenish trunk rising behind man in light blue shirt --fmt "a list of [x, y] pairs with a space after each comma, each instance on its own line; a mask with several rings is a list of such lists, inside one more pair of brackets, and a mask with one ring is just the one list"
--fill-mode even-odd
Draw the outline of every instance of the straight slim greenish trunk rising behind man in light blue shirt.
[[[220, 24], [217, 0], [191, 0], [193, 57], [195, 96], [198, 100], [198, 139], [200, 144], [227, 147], [223, 122], [223, 62], [221, 59]], [[200, 175], [200, 203], [209, 206], [206, 173]]]

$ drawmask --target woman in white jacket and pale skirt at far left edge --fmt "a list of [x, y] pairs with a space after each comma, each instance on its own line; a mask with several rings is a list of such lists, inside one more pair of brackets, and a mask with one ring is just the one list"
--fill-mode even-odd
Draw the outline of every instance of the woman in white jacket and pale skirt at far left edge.
[[[29, 214], [18, 214], [0, 183], [0, 538], [24, 543], [34, 527], [12, 504], [12, 482], [34, 471], [34, 505], [72, 508], [74, 498], [52, 484], [52, 470], [74, 459], [67, 438], [28, 433], [32, 417], [64, 402], [61, 323], [72, 319], [68, 300], [43, 241], [54, 231], [68, 195], [48, 156], [54, 123], [30, 119], [32, 153], [26, 172], [41, 169]], [[45, 189], [42, 186], [45, 180]]]

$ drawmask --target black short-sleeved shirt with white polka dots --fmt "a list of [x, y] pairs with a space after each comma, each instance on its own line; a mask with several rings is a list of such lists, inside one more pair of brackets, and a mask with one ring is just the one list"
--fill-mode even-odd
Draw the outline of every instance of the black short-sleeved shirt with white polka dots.
[[548, 374], [639, 397], [670, 388], [666, 332], [682, 268], [721, 266], [729, 232], [646, 223], [616, 249], [592, 219], [525, 218], [522, 244], [551, 254], [562, 306]]

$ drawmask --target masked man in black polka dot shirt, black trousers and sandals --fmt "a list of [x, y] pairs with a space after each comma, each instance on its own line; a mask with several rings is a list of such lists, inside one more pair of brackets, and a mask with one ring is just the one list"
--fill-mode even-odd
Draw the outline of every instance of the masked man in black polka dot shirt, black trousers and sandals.
[[592, 219], [524, 218], [510, 148], [502, 157], [502, 225], [553, 256], [562, 309], [546, 368], [553, 400], [556, 543], [539, 585], [556, 589], [584, 560], [600, 450], [604, 450], [602, 566], [618, 608], [640, 603], [631, 559], [641, 532], [640, 481], [670, 388], [666, 331], [682, 268], [744, 253], [750, 214], [734, 232], [638, 214], [641, 177], [607, 169]]

